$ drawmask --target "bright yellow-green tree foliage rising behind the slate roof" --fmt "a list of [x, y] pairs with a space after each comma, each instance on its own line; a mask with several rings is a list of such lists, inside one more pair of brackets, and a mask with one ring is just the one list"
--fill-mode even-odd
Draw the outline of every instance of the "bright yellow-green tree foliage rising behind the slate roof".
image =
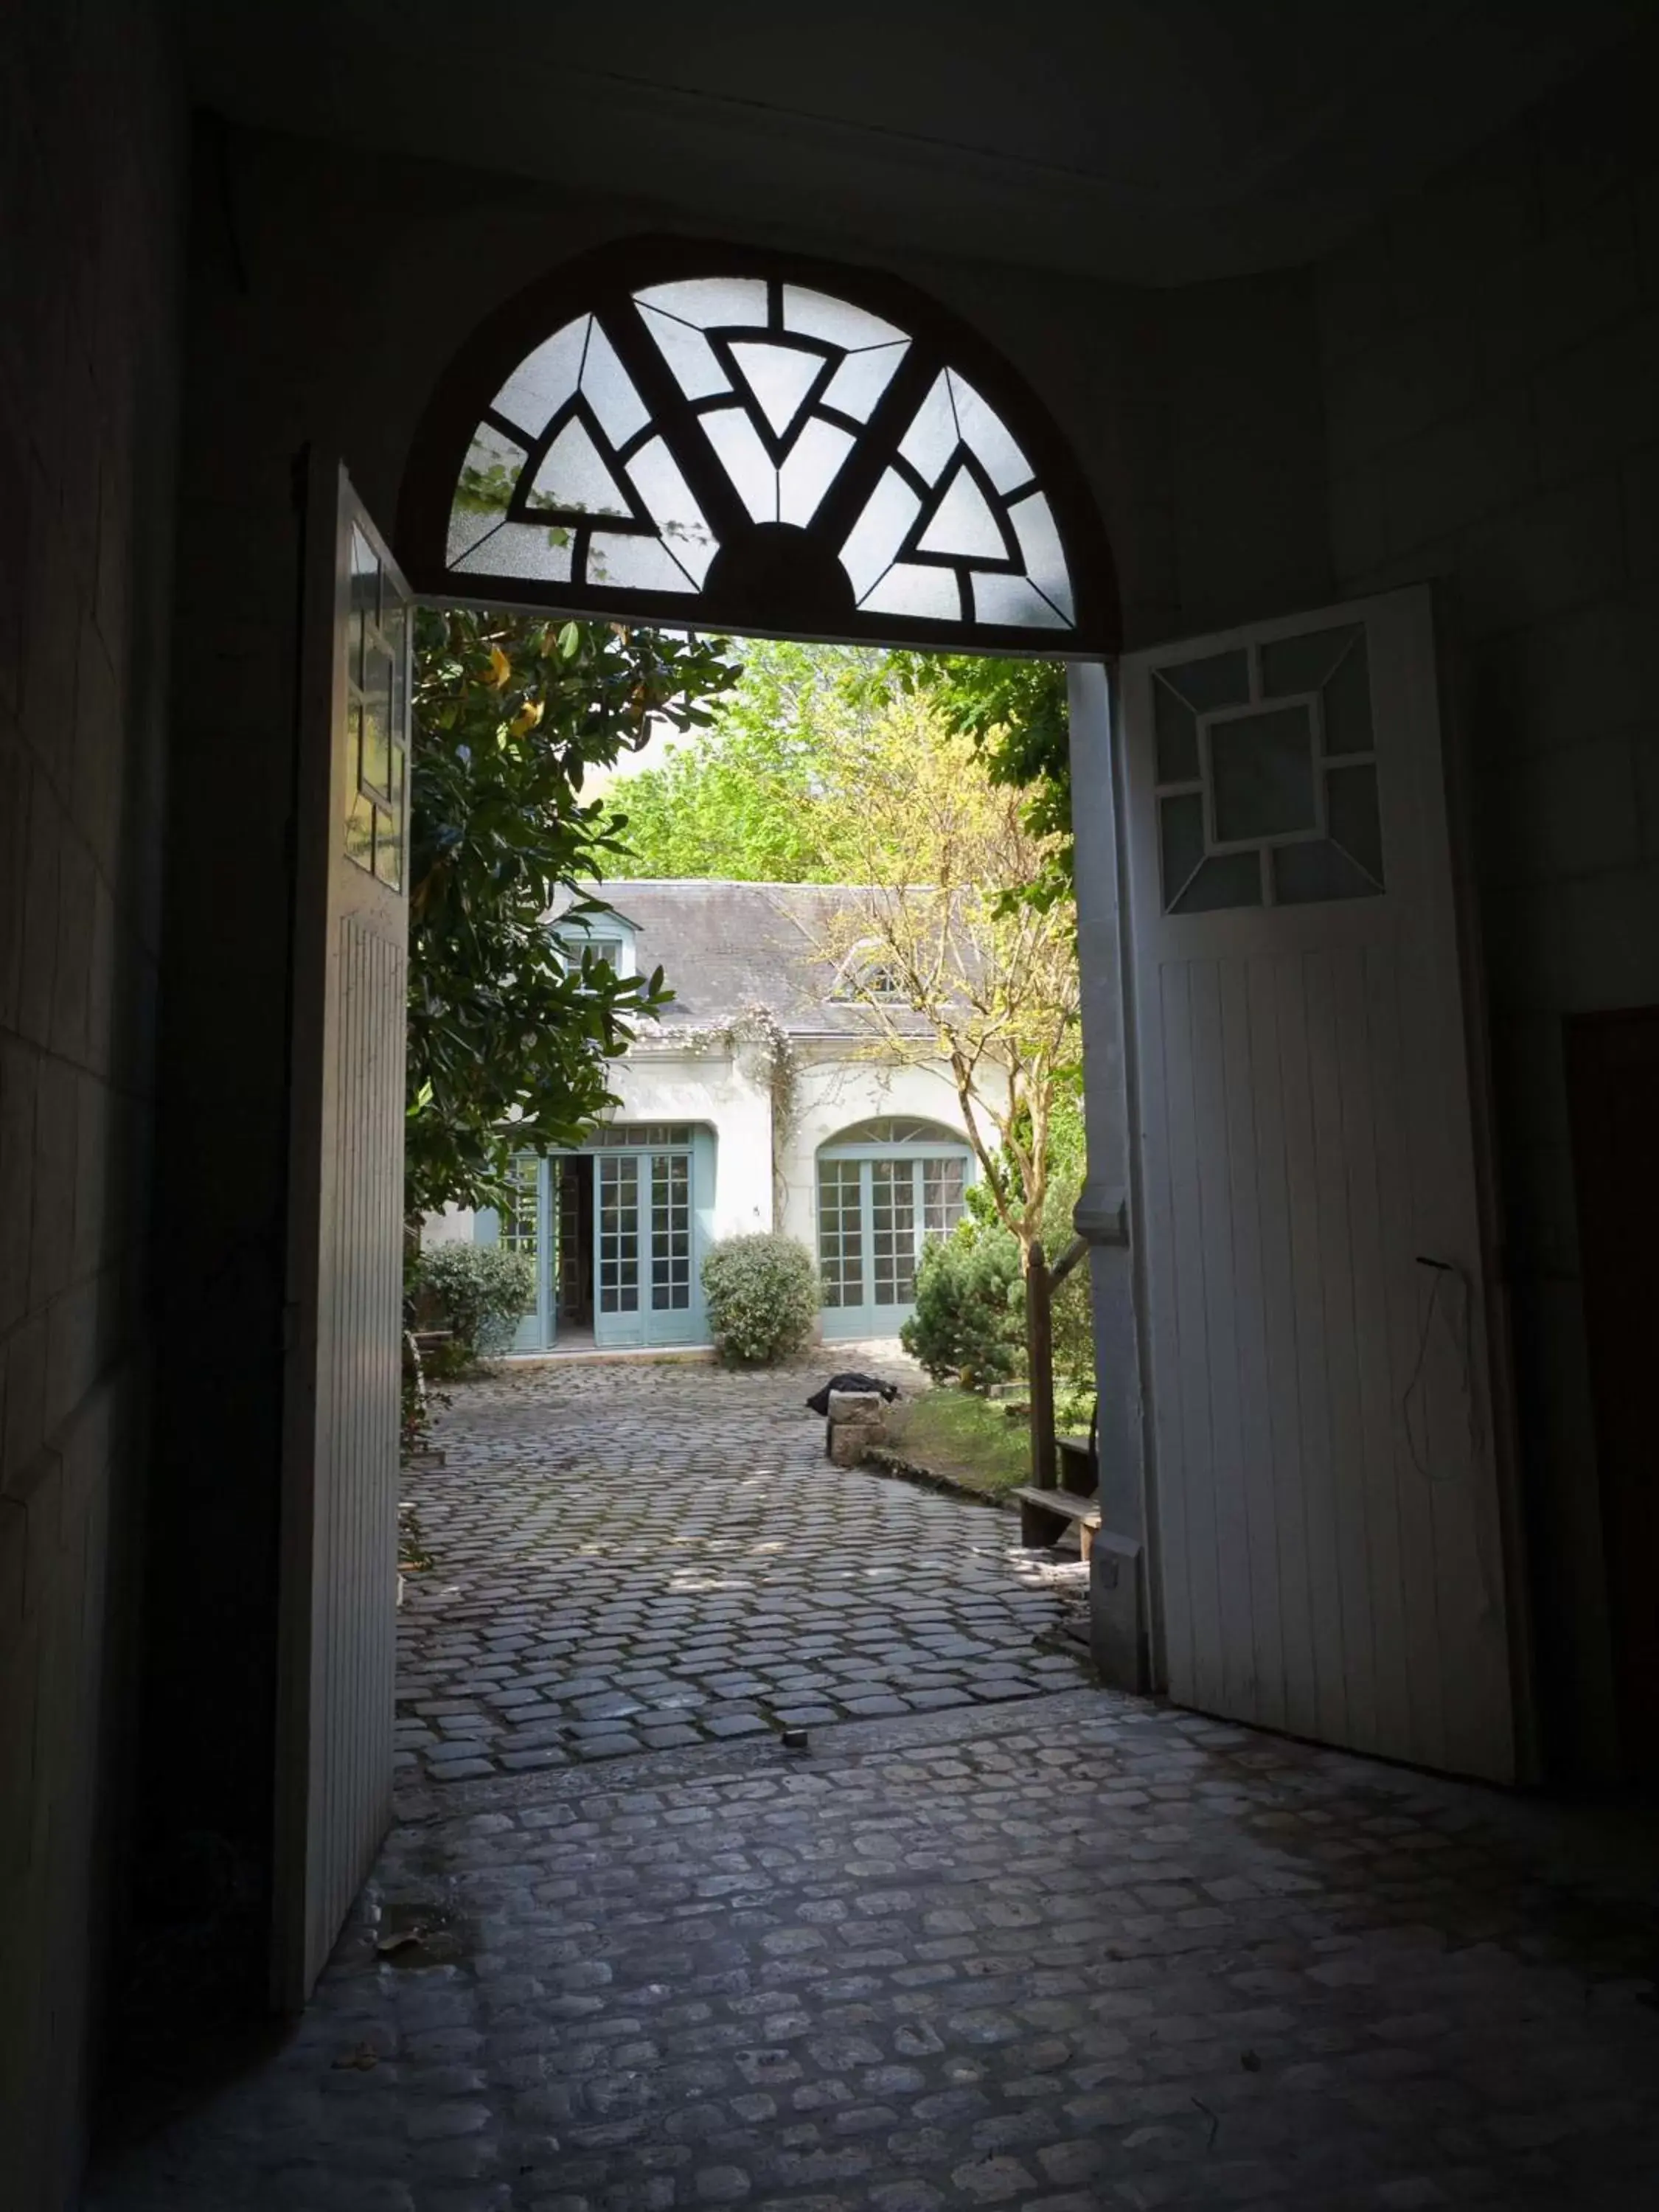
[[708, 737], [611, 790], [617, 876], [841, 883], [849, 741], [880, 710], [887, 657], [754, 644]]

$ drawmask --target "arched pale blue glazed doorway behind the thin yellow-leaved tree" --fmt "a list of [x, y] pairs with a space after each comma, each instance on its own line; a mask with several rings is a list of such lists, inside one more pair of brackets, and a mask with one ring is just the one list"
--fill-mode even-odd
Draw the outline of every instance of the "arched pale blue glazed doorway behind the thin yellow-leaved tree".
[[916, 1312], [929, 1243], [962, 1219], [973, 1152], [940, 1121], [856, 1121], [818, 1146], [818, 1283], [825, 1343], [896, 1336]]

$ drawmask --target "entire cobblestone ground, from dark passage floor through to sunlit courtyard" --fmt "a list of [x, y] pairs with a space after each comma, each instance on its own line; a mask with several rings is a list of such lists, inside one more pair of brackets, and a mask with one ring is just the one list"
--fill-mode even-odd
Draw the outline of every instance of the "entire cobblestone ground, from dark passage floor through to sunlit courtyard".
[[[480, 1725], [411, 1745], [283, 2048], [91, 2212], [1650, 2212], [1650, 1825], [1042, 1672], [1004, 1520], [834, 1475], [799, 1398], [458, 1400], [409, 1694]], [[858, 1697], [909, 1710], [770, 1725]]]

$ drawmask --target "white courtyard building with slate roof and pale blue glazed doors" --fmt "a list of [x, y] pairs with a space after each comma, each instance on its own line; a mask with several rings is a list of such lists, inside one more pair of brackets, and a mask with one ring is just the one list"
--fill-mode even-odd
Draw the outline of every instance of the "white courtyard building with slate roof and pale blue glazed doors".
[[[628, 880], [608, 896], [613, 916], [562, 925], [573, 956], [661, 967], [675, 993], [611, 1071], [619, 1106], [580, 1150], [520, 1155], [509, 1214], [449, 1208], [425, 1243], [533, 1261], [513, 1352], [706, 1345], [703, 1256], [761, 1230], [812, 1250], [825, 1338], [898, 1336], [978, 1164], [931, 1026], [860, 1004], [869, 958], [836, 927], [854, 894]], [[982, 1115], [980, 1139], [995, 1148]]]

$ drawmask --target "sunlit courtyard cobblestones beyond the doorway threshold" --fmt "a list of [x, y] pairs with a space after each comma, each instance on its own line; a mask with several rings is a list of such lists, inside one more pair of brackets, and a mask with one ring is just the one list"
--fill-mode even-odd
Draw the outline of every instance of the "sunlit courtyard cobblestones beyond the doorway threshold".
[[[823, 1455], [825, 1363], [533, 1365], [456, 1391], [411, 1473], [434, 1568], [398, 1655], [405, 1781], [473, 1781], [1084, 1679], [1018, 1522]], [[1071, 1568], [1071, 1577], [1077, 1577]]]

